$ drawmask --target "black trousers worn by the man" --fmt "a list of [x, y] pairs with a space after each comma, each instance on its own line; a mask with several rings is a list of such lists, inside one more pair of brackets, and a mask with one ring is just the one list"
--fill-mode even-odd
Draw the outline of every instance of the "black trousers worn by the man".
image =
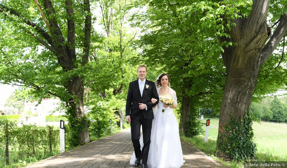
[[[140, 125], [143, 129], [143, 148], [140, 151]], [[145, 119], [143, 111], [140, 111], [133, 119], [131, 119], [131, 134], [133, 148], [136, 157], [142, 159], [142, 163], [147, 163], [148, 151], [151, 144], [151, 125], [152, 119]]]

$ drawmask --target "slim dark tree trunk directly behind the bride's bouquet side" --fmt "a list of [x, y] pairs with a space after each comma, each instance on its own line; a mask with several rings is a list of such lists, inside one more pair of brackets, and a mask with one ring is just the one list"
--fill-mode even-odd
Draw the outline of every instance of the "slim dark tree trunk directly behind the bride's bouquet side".
[[191, 111], [191, 97], [184, 96], [182, 98], [182, 112], [180, 116], [180, 132], [185, 135], [185, 126], [188, 124], [190, 111]]

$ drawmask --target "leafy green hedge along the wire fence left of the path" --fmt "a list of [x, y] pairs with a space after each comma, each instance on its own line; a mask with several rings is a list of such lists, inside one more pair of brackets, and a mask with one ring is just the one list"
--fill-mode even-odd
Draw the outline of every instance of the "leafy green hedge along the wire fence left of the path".
[[31, 156], [39, 159], [55, 155], [59, 151], [59, 140], [59, 128], [23, 123], [18, 127], [15, 121], [0, 119], [0, 167], [4, 167], [5, 163], [13, 165]]

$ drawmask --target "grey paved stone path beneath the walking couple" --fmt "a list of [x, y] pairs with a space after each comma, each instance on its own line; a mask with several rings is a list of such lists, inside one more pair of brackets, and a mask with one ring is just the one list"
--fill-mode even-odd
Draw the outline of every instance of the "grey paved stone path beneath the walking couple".
[[[194, 145], [182, 141], [181, 146], [183, 158], [186, 161], [182, 168], [223, 167]], [[129, 164], [132, 154], [133, 145], [130, 130], [127, 129], [26, 167], [132, 168], [133, 166]]]

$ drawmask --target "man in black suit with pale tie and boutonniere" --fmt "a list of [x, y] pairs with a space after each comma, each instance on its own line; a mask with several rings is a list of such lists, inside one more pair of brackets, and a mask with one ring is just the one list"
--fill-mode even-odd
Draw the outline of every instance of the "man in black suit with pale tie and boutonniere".
[[[136, 154], [135, 166], [140, 165], [142, 159], [142, 167], [148, 168], [147, 156], [151, 143], [151, 124], [154, 119], [152, 107], [158, 104], [158, 92], [155, 84], [146, 79], [147, 66], [140, 65], [137, 68], [139, 79], [129, 83], [129, 91], [125, 105], [125, 119], [131, 124], [131, 134], [133, 148]], [[151, 99], [157, 100], [155, 104]], [[143, 148], [140, 150], [140, 126], [143, 129]]]

